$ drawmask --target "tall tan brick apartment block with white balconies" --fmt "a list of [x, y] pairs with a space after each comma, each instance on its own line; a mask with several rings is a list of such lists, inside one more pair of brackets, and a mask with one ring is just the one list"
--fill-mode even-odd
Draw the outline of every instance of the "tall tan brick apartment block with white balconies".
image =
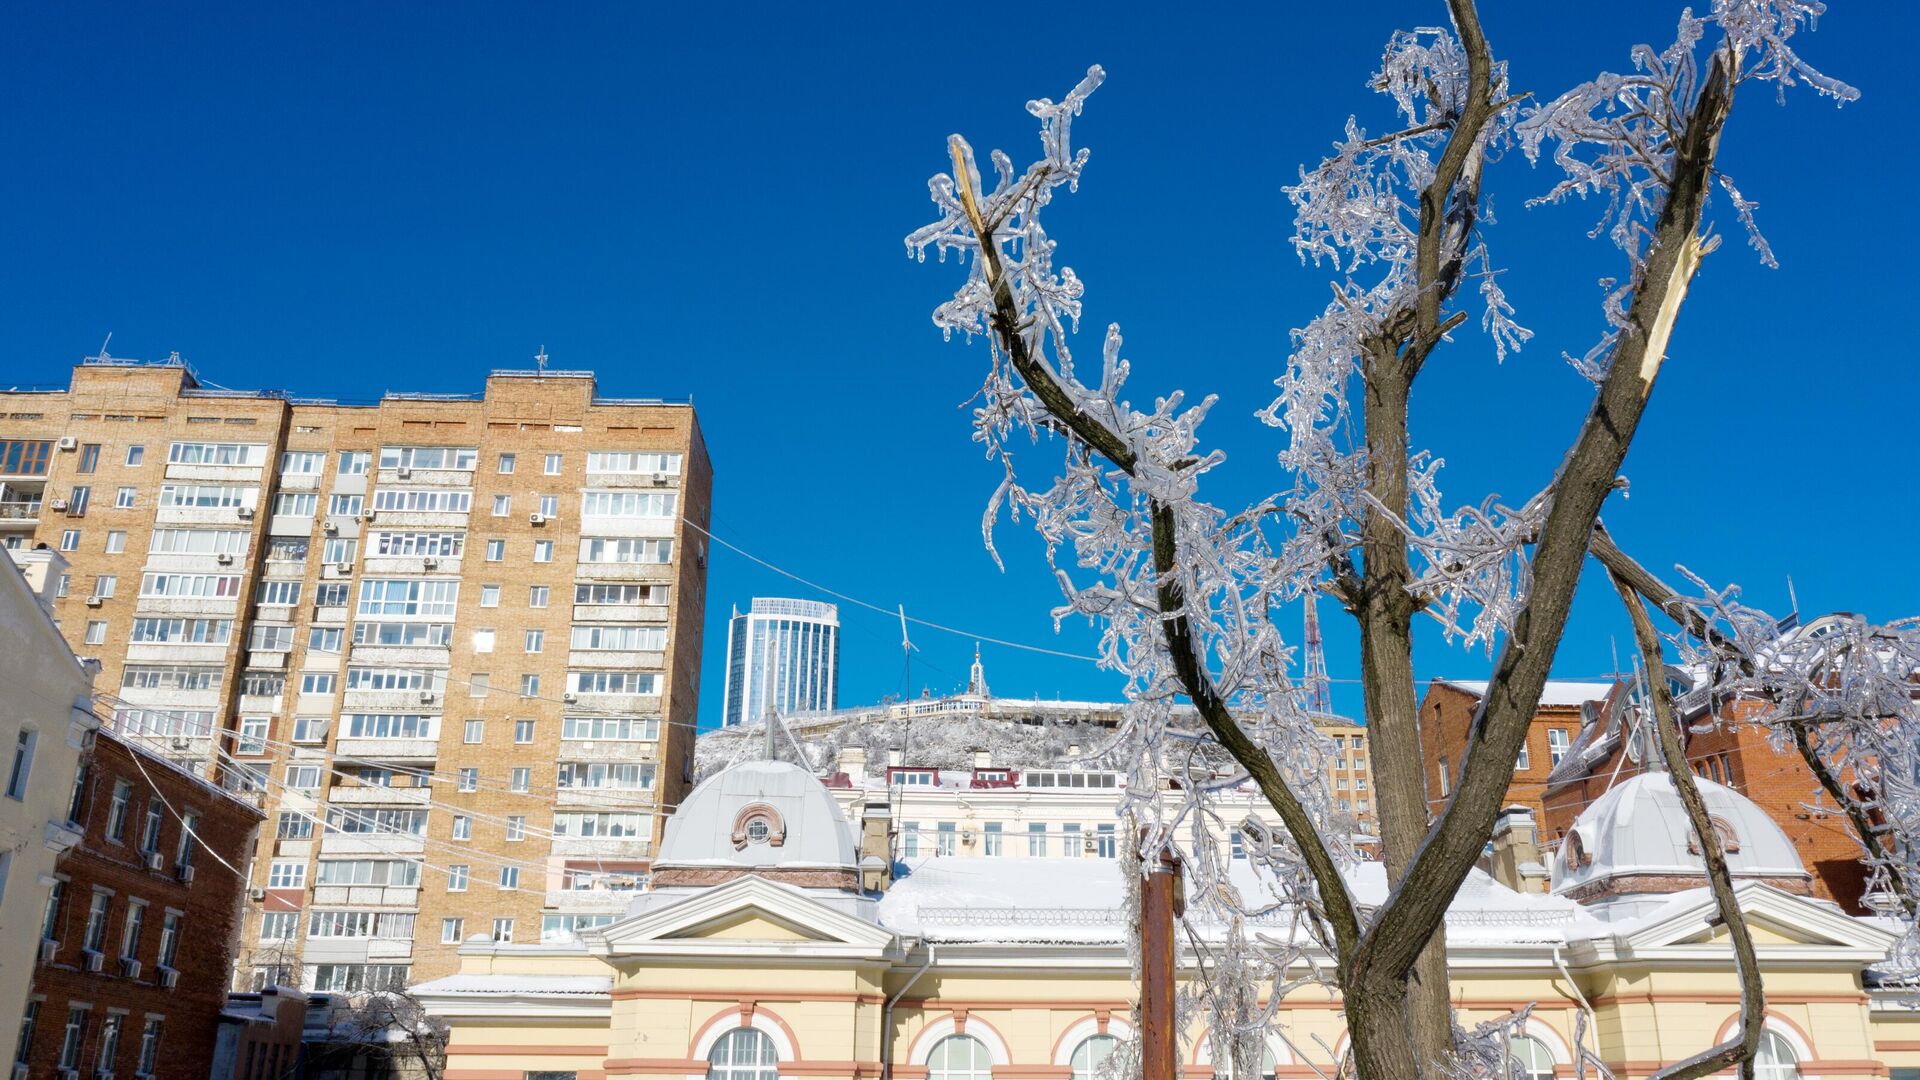
[[96, 357], [0, 392], [0, 544], [71, 561], [109, 726], [269, 813], [242, 988], [626, 909], [689, 784], [710, 482], [689, 405], [591, 373], [338, 404]]

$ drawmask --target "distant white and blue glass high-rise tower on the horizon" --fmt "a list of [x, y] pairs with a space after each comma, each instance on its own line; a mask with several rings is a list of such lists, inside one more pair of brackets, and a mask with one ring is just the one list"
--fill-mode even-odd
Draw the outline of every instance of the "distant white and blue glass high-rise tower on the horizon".
[[726, 632], [726, 703], [720, 723], [831, 709], [839, 701], [839, 607], [814, 600], [753, 598]]

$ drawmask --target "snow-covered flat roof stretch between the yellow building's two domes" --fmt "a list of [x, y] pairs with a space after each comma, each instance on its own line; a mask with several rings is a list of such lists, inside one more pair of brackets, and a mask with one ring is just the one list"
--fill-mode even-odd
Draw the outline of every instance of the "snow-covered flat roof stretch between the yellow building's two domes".
[[[1356, 863], [1346, 878], [1361, 905], [1386, 901], [1384, 865]], [[1248, 863], [1233, 863], [1229, 884], [1248, 907], [1271, 897]], [[1121, 944], [1125, 886], [1114, 859], [924, 857], [900, 867], [879, 922], [929, 942]], [[1271, 932], [1290, 924], [1284, 915], [1269, 922]], [[1448, 938], [1457, 942], [1565, 942], [1605, 930], [1567, 897], [1515, 892], [1482, 871], [1469, 872], [1448, 909]]]

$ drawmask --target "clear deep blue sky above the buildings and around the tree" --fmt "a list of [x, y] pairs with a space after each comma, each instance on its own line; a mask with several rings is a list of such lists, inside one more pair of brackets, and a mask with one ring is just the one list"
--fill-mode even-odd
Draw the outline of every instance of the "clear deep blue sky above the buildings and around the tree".
[[[340, 398], [474, 390], [545, 344], [605, 392], [693, 396], [724, 538], [925, 619], [1087, 648], [1085, 628], [1054, 636], [1058, 592], [1023, 527], [1000, 528], [1008, 573], [981, 550], [995, 469], [962, 404], [985, 354], [927, 319], [958, 271], [900, 244], [929, 215], [947, 133], [1025, 161], [1023, 102], [1106, 65], [1075, 125], [1087, 183], [1052, 231], [1092, 331], [1123, 325], [1137, 394], [1225, 398], [1215, 492], [1236, 503], [1277, 482], [1252, 413], [1286, 331], [1327, 296], [1286, 244], [1281, 186], [1348, 113], [1386, 129], [1363, 90], [1380, 42], [1444, 8], [906, 8], [10, 4], [0, 380], [61, 382], [108, 331], [115, 356], [180, 350], [228, 386]], [[1678, 10], [1488, 0], [1484, 19], [1515, 85], [1553, 94], [1668, 42]], [[1740, 102], [1722, 161], [1784, 269], [1726, 223], [1626, 465], [1632, 498], [1607, 511], [1647, 563], [1688, 561], [1782, 611], [1788, 575], [1803, 611], [1920, 611], [1920, 511], [1899, 480], [1920, 388], [1903, 332], [1914, 152], [1874, 135], [1908, 119], [1905, 23], [1836, 0], [1801, 38], [1862, 88], [1855, 106]], [[1559, 352], [1594, 340], [1594, 282], [1619, 263], [1584, 236], [1596, 206], [1523, 208], [1549, 183], [1517, 156], [1490, 183], [1496, 258], [1538, 338], [1496, 365], [1463, 336], [1417, 388], [1415, 436], [1448, 457], [1453, 502], [1536, 490], [1586, 407]], [[708, 723], [728, 605], [804, 596], [726, 552], [710, 565]], [[1350, 678], [1352, 628], [1323, 617]], [[899, 626], [843, 621], [843, 700], [900, 692]], [[914, 640], [914, 690], [964, 680], [972, 642]], [[1596, 580], [1559, 673], [1609, 671], [1615, 640]], [[1486, 657], [1428, 640], [1419, 667], [1473, 676]], [[987, 673], [1006, 694], [1117, 692], [1091, 665], [1010, 650], [989, 648]]]

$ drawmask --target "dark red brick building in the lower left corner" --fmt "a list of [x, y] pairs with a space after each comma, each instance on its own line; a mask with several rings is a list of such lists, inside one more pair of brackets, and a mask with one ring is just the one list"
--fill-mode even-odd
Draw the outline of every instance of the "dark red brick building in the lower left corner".
[[13, 1074], [204, 1080], [265, 815], [102, 730], [71, 817]]

